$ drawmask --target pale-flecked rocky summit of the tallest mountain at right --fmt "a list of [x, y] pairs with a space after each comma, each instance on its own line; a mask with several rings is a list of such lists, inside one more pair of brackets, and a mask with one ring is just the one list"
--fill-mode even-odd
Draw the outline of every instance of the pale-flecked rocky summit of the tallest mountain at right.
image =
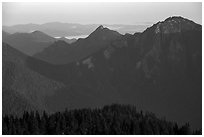
[[156, 25], [155, 33], [177, 33], [189, 30], [201, 30], [201, 25], [181, 16], [169, 17]]

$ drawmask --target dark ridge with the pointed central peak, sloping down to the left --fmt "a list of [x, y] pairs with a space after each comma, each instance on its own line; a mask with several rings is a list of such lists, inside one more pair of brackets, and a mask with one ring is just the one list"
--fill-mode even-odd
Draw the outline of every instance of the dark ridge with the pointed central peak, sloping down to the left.
[[42, 52], [35, 54], [34, 57], [52, 64], [67, 64], [106, 48], [111, 42], [120, 39], [121, 36], [116, 31], [99, 26], [85, 39], [79, 39], [63, 48], [61, 48], [60, 43], [56, 42]]

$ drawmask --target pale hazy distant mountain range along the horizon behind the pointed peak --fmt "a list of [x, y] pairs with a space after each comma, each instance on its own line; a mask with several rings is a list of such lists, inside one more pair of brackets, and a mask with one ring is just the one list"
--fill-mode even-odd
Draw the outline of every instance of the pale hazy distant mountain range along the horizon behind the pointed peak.
[[[14, 26], [3, 26], [3, 30], [11, 34], [16, 32], [29, 33], [35, 30], [39, 30], [52, 37], [65, 37], [65, 36], [89, 35], [98, 26], [99, 26], [98, 24], [82, 25], [82, 24], [76, 24], [76, 23], [49, 22], [41, 25], [22, 24], [22, 25], [14, 25]], [[132, 34], [135, 32], [142, 32], [150, 25], [148, 24], [144, 24], [144, 25], [104, 24], [104, 26], [110, 29], [116, 30], [121, 34], [125, 34], [125, 33]]]

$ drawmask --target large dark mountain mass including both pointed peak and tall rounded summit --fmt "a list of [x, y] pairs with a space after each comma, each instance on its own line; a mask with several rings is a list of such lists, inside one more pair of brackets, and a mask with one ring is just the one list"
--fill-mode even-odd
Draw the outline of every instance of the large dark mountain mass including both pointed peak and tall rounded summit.
[[[58, 41], [26, 61], [30, 70], [66, 85], [45, 97], [51, 111], [136, 104], [194, 128], [202, 121], [202, 27], [168, 18], [143, 33], [103, 26], [72, 44]], [[4, 52], [4, 51], [3, 51]]]

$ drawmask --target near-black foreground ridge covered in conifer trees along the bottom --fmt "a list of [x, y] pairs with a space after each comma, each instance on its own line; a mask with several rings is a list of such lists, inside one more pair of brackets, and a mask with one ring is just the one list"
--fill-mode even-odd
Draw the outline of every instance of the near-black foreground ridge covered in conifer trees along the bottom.
[[12, 115], [3, 117], [3, 135], [44, 134], [44, 135], [98, 135], [98, 134], [202, 134], [201, 130], [191, 131], [187, 123], [178, 126], [157, 118], [153, 113], [138, 112], [130, 105], [113, 104], [102, 109], [75, 109], [48, 115], [46, 112], [24, 112], [20, 118]]

